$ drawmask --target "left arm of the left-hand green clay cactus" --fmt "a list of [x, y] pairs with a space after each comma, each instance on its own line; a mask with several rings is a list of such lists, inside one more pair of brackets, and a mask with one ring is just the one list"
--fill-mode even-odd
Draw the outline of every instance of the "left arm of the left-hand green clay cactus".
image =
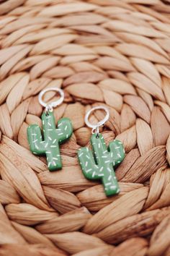
[[45, 154], [45, 142], [42, 141], [41, 129], [36, 124], [30, 125], [27, 129], [27, 137], [30, 150], [35, 155]]

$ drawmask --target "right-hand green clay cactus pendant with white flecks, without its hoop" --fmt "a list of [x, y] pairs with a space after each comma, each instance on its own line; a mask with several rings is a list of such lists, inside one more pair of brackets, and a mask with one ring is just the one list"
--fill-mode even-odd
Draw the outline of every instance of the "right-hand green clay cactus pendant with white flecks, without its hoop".
[[125, 158], [125, 150], [122, 142], [114, 140], [107, 145], [104, 137], [96, 134], [91, 136], [91, 145], [94, 155], [89, 148], [81, 148], [78, 152], [79, 163], [84, 176], [87, 179], [102, 179], [104, 192], [107, 196], [120, 192], [115, 176], [114, 166], [121, 163]]

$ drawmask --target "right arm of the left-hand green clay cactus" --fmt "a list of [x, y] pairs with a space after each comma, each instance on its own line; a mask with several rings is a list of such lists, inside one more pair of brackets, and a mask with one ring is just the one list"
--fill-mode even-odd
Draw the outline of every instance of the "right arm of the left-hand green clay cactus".
[[70, 119], [62, 118], [58, 121], [58, 129], [55, 129], [56, 137], [58, 137], [58, 143], [61, 144], [71, 137], [73, 133], [73, 127]]

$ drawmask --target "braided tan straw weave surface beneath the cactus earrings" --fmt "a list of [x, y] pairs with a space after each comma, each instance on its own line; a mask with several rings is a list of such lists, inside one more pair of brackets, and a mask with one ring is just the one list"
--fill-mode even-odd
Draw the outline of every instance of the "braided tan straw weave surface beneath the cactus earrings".
[[[0, 14], [0, 255], [170, 255], [170, 1], [1, 0]], [[55, 120], [74, 132], [50, 173], [27, 127], [41, 126], [37, 95], [52, 86], [66, 95]], [[104, 139], [126, 152], [112, 197], [76, 157], [99, 105]]]

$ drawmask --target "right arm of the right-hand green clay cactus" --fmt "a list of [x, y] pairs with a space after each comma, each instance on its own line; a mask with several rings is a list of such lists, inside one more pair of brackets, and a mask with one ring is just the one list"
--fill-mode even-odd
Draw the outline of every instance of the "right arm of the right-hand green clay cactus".
[[110, 142], [108, 150], [112, 158], [113, 166], [121, 163], [125, 158], [125, 150], [120, 140], [114, 140]]

